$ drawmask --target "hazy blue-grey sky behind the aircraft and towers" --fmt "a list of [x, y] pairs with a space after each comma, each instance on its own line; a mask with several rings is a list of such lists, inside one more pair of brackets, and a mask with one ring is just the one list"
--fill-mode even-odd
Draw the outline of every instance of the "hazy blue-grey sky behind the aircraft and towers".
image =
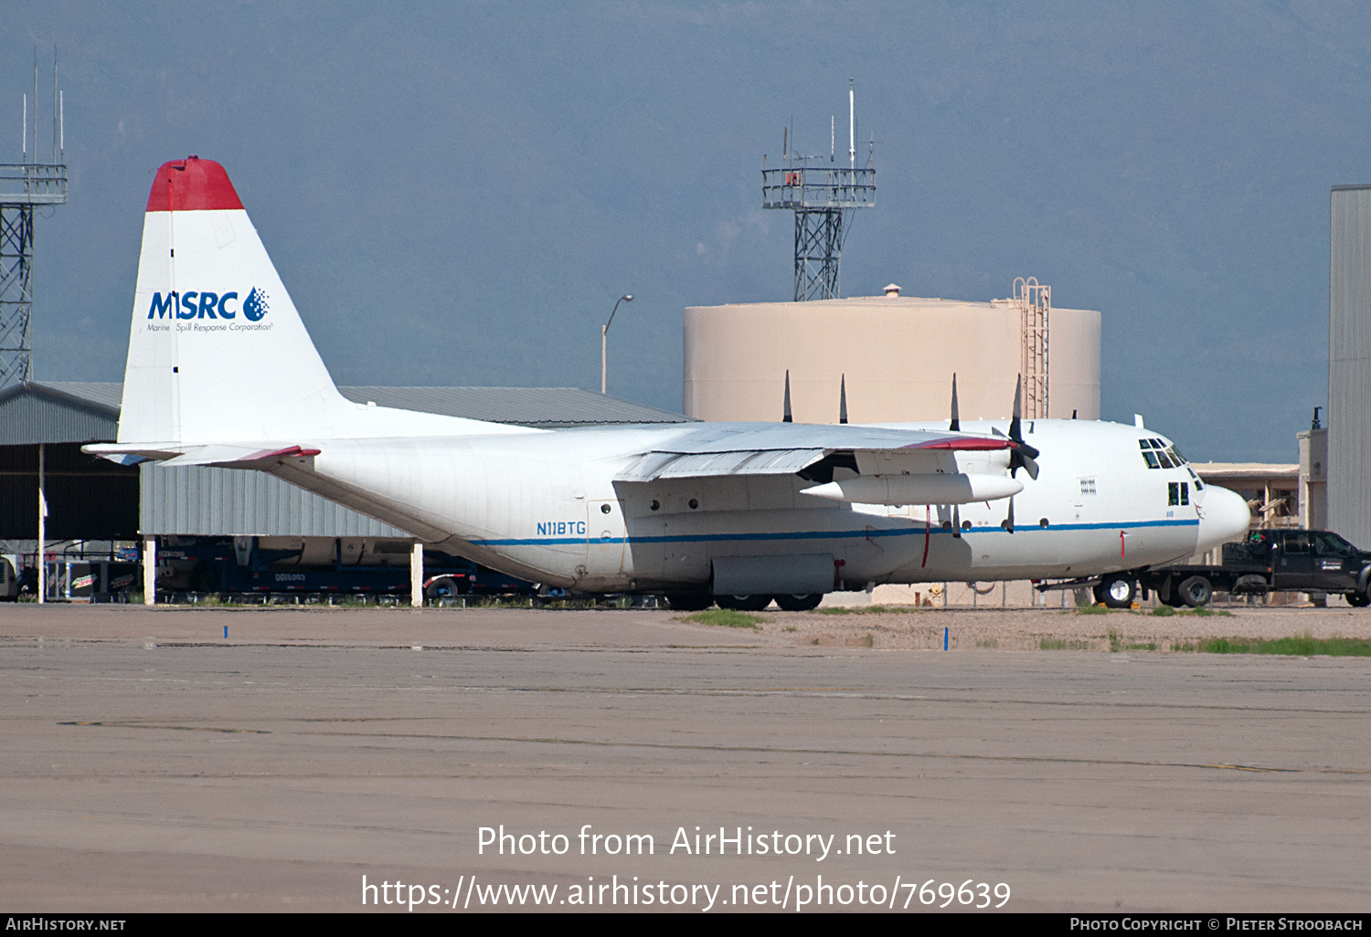
[[51, 104], [40, 379], [121, 379], [156, 167], [225, 164], [340, 384], [680, 408], [681, 310], [788, 299], [762, 153], [857, 85], [879, 207], [843, 292], [1104, 312], [1106, 419], [1296, 459], [1327, 382], [1328, 186], [1371, 179], [1357, 3], [0, 3], [0, 159]]

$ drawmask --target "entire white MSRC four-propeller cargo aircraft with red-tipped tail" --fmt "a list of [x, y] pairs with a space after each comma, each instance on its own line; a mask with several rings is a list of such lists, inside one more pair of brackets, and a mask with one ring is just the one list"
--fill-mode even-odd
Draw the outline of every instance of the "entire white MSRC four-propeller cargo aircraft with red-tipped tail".
[[266, 471], [503, 573], [677, 608], [1078, 577], [1131, 599], [1249, 521], [1164, 437], [1097, 421], [536, 430], [355, 404], [195, 156], [152, 184], [118, 442], [85, 449]]

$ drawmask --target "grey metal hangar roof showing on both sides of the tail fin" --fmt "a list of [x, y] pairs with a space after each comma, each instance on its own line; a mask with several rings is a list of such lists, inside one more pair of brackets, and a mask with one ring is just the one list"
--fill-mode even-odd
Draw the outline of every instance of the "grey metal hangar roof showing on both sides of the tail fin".
[[[356, 403], [563, 429], [606, 423], [680, 423], [688, 416], [577, 388], [339, 388]], [[0, 390], [0, 445], [93, 442], [118, 433], [123, 385], [51, 381]]]

